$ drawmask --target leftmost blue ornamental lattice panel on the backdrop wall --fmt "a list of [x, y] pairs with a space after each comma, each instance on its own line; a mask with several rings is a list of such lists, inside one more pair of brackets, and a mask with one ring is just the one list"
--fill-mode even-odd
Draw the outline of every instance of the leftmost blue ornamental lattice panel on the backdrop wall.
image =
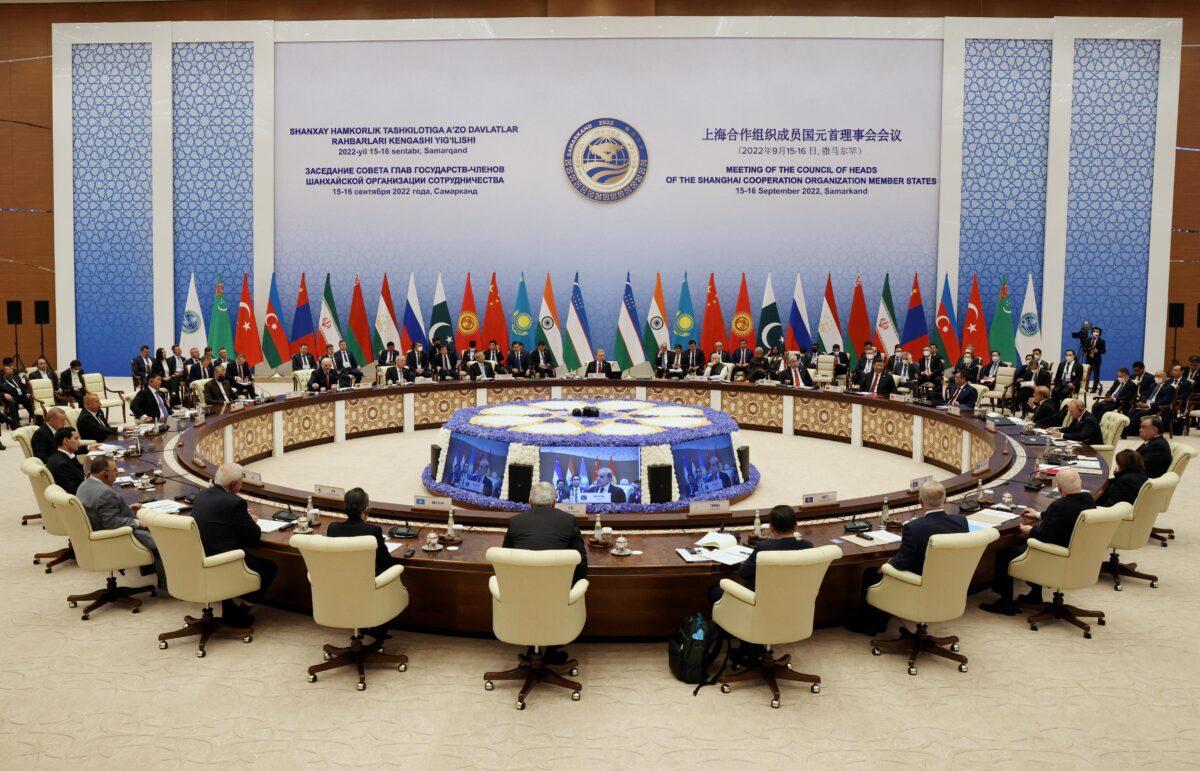
[[72, 46], [71, 110], [77, 355], [127, 376], [154, 343], [150, 44]]

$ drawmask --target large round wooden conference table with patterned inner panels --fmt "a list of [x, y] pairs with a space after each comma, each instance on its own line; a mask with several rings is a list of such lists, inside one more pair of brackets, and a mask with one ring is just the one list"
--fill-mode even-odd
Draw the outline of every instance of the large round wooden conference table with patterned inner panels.
[[[830, 390], [797, 390], [775, 386], [692, 381], [595, 381], [595, 379], [505, 379], [490, 382], [445, 382], [386, 388], [356, 388], [336, 393], [280, 396], [260, 405], [223, 410], [203, 422], [172, 420], [174, 430], [142, 440], [140, 458], [124, 458], [126, 473], [154, 467], [158, 460], [167, 482], [150, 494], [126, 490], [131, 500], [140, 495], [178, 497], [209, 483], [216, 467], [227, 461], [241, 464], [277, 456], [289, 450], [330, 443], [341, 453], [353, 453], [353, 440], [386, 432], [414, 431], [442, 426], [461, 407], [529, 399], [649, 399], [654, 401], [710, 406], [730, 413], [742, 429], [772, 431], [790, 436], [811, 436], [846, 442], [910, 456], [952, 472], [943, 479], [955, 510], [955, 497], [983, 486], [1000, 498], [1013, 495], [1018, 506], [1044, 509], [1049, 498], [1027, 490], [1024, 482], [1034, 471], [1044, 446], [1020, 434], [1015, 426], [998, 425], [970, 413], [950, 412]], [[175, 425], [178, 424], [178, 425]], [[331, 448], [332, 449], [332, 448]], [[1091, 454], [1087, 448], [1081, 455]], [[751, 458], [751, 461], [754, 459]], [[803, 464], [798, 454], [797, 464]], [[1108, 478], [1102, 459], [1099, 476], [1084, 476], [1085, 488], [1094, 490]], [[408, 470], [420, 474], [420, 468]], [[337, 479], [323, 480], [336, 484]], [[904, 521], [918, 514], [913, 490], [877, 494], [802, 504], [798, 491], [792, 503], [800, 520], [798, 530], [816, 545], [838, 543], [842, 557], [829, 568], [816, 602], [816, 623], [829, 626], [850, 617], [858, 608], [863, 573], [887, 561], [895, 544], [862, 546], [844, 537], [845, 521], [877, 518], [884, 495], [893, 516]], [[812, 490], [811, 492], [821, 492]], [[247, 480], [242, 495], [253, 516], [269, 519], [287, 504], [304, 507], [313, 495], [271, 484]], [[338, 515], [340, 500], [316, 497], [325, 524]], [[736, 567], [715, 562], [685, 562], [676, 549], [692, 545], [715, 527], [744, 536], [755, 514], [766, 519], [766, 509], [738, 508], [728, 512], [689, 514], [612, 514], [604, 524], [614, 536], [625, 534], [630, 549], [641, 554], [618, 557], [607, 549], [588, 549], [587, 639], [666, 638], [689, 614], [710, 610], [708, 587], [736, 573]], [[391, 525], [410, 521], [420, 527], [416, 539], [392, 540], [400, 546], [394, 556], [404, 566], [403, 581], [410, 604], [396, 620], [400, 628], [425, 632], [491, 635], [491, 594], [487, 579], [492, 568], [485, 558], [490, 546], [500, 545], [509, 513], [470, 510], [455, 507], [462, 544], [456, 550], [421, 550], [426, 532], [445, 530], [446, 512], [418, 508], [401, 502], [372, 502], [370, 521]], [[872, 522], [872, 527], [876, 525]], [[982, 588], [991, 579], [995, 549], [1019, 543], [1015, 516], [998, 527], [1000, 538], [980, 561], [972, 587]], [[580, 518], [584, 536], [592, 521]], [[280, 574], [266, 602], [298, 611], [311, 611], [311, 593], [304, 561], [288, 545], [290, 531], [264, 533], [254, 554], [274, 560]], [[743, 543], [745, 539], [743, 538]], [[406, 549], [412, 557], [402, 558]]]

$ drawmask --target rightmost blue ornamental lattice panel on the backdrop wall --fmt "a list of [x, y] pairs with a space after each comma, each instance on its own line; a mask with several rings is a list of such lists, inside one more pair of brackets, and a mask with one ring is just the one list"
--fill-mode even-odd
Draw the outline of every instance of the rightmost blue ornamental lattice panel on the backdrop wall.
[[1145, 341], [1158, 59], [1157, 40], [1075, 41], [1062, 343], [1103, 327], [1105, 377]]

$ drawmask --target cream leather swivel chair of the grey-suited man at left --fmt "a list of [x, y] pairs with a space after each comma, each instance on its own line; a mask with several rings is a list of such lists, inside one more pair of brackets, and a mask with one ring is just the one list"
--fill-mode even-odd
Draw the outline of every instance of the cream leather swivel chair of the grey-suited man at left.
[[71, 536], [71, 545], [74, 548], [76, 562], [79, 567], [92, 573], [108, 573], [104, 588], [88, 594], [70, 594], [67, 605], [74, 608], [79, 603], [90, 602], [91, 604], [83, 609], [82, 618], [84, 621], [91, 617], [94, 610], [109, 603], [130, 603], [133, 605], [133, 612], [142, 610], [142, 600], [134, 594], [150, 592], [150, 596], [154, 597], [157, 593], [155, 587], [151, 585], [134, 587], [116, 585], [118, 570], [154, 564], [154, 552], [133, 537], [133, 528], [126, 526], [92, 531], [91, 521], [88, 519], [88, 513], [79, 498], [68, 495], [56, 484], [47, 488], [46, 500], [54, 507]]

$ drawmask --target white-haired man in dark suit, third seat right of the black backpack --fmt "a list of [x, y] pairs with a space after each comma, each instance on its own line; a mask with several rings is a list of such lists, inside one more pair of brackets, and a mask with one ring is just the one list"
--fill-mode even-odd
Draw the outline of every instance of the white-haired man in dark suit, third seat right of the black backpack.
[[[1024, 516], [1040, 521], [1037, 525], [1021, 525], [1021, 534], [1066, 549], [1070, 545], [1075, 520], [1087, 509], [1096, 508], [1096, 498], [1092, 497], [1091, 492], [1084, 490], [1084, 483], [1074, 468], [1060, 470], [1055, 474], [1054, 483], [1062, 497], [1051, 501], [1040, 515], [1036, 509], [1025, 507]], [[1019, 603], [1037, 604], [1042, 602], [1042, 587], [1037, 584], [1030, 584], [1027, 594], [1013, 599], [1013, 576], [1008, 574], [1008, 563], [1025, 554], [1025, 549], [1026, 545], [1020, 544], [996, 551], [996, 568], [991, 579], [991, 590], [1000, 594], [1000, 598], [991, 603], [980, 604], [980, 610], [1002, 616], [1015, 616], [1021, 611]]]

